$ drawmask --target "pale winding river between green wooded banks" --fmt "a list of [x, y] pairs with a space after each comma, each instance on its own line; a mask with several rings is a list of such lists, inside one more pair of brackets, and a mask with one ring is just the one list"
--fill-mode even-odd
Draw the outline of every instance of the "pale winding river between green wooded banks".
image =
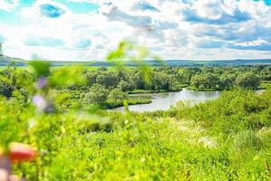
[[[132, 96], [151, 96], [153, 102], [149, 104], [138, 104], [128, 106], [129, 110], [136, 112], [155, 111], [155, 110], [168, 110], [171, 105], [178, 101], [192, 101], [198, 103], [204, 100], [214, 100], [220, 97], [220, 91], [198, 91], [182, 89], [176, 92], [163, 92], [163, 93], [143, 93], [135, 94]], [[124, 107], [120, 107], [114, 110], [124, 110]]]

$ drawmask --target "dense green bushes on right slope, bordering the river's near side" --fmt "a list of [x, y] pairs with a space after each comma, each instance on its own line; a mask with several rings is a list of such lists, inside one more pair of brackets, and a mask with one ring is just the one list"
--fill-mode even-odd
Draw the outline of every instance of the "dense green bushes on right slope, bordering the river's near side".
[[[200, 103], [193, 107], [181, 104], [173, 108], [177, 117], [196, 119], [216, 134], [233, 134], [238, 130], [260, 130], [270, 127], [270, 90], [256, 94], [253, 90], [222, 92], [218, 100]], [[226, 136], [225, 135], [225, 136]]]

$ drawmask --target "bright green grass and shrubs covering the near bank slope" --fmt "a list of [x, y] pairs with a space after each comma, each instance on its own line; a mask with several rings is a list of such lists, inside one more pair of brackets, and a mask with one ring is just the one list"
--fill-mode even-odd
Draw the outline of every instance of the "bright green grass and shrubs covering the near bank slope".
[[28, 180], [268, 180], [270, 92], [148, 114], [34, 114], [2, 100], [0, 140], [38, 148], [36, 161], [14, 165]]

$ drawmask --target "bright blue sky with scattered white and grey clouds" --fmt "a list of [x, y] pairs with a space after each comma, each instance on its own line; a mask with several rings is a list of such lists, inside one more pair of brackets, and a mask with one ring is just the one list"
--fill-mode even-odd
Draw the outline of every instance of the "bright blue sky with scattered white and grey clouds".
[[271, 0], [0, 0], [8, 56], [104, 60], [124, 39], [164, 60], [271, 59]]

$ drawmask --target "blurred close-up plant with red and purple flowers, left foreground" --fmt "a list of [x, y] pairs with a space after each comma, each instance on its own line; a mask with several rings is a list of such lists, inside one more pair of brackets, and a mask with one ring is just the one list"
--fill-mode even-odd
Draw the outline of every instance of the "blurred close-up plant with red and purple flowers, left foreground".
[[[114, 62], [117, 69], [124, 69], [125, 61], [133, 60], [145, 83], [148, 84], [151, 80], [150, 68], [143, 60], [149, 54], [145, 48], [125, 41], [119, 44], [116, 51], [108, 54], [107, 61]], [[73, 66], [72, 69], [65, 67], [54, 69], [50, 62], [44, 61], [33, 61], [29, 64], [34, 77], [31, 82], [26, 81], [31, 90], [27, 95], [27, 98], [31, 100], [30, 104], [21, 105], [14, 99], [14, 102], [6, 100], [8, 104], [2, 103], [3, 107], [0, 107], [6, 113], [6, 115], [1, 115], [1, 119], [4, 121], [0, 121], [0, 129], [5, 131], [5, 136], [1, 135], [3, 140], [0, 140], [0, 144], [3, 146], [3, 151], [0, 153], [3, 152], [2, 157], [7, 157], [8, 160], [33, 159], [36, 156], [33, 148], [12, 142], [23, 141], [35, 146], [39, 152], [39, 157], [35, 159], [35, 162], [30, 165], [19, 165], [19, 168], [15, 167], [15, 169], [20, 169], [23, 174], [27, 173], [27, 179], [38, 180], [49, 177], [50, 169], [55, 168], [51, 166], [54, 158], [62, 148], [72, 145], [72, 140], [69, 138], [76, 139], [79, 135], [89, 132], [109, 133], [113, 131], [113, 126], [111, 120], [106, 116], [92, 117], [98, 112], [98, 109], [88, 113], [85, 110], [77, 111], [65, 108], [61, 104], [65, 100], [69, 100], [69, 94], [55, 93], [56, 90], [63, 88], [68, 88], [69, 92], [69, 90], [84, 86], [86, 80], [82, 75], [85, 68]], [[23, 80], [19, 79], [19, 81], [23, 85]], [[106, 93], [108, 94], [108, 92]], [[126, 95], [122, 95], [122, 98], [126, 99]], [[110, 100], [117, 101], [119, 98], [113, 92]], [[126, 100], [124, 100], [124, 105], [127, 110]], [[128, 111], [126, 112], [126, 115], [129, 116]], [[10, 161], [6, 163], [10, 163]], [[9, 170], [10, 167], [11, 165], [9, 165]]]

